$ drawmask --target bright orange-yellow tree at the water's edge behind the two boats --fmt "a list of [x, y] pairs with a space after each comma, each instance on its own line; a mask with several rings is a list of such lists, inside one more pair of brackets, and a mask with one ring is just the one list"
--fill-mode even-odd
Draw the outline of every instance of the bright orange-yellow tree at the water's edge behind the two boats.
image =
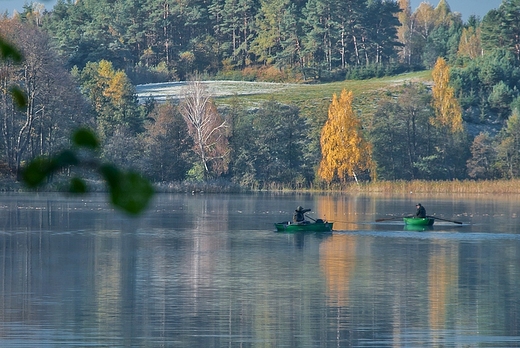
[[372, 148], [364, 139], [361, 122], [352, 109], [353, 94], [345, 89], [338, 99], [332, 96], [328, 119], [321, 130], [321, 179], [345, 182], [349, 176], [357, 182], [356, 172], [372, 169]]

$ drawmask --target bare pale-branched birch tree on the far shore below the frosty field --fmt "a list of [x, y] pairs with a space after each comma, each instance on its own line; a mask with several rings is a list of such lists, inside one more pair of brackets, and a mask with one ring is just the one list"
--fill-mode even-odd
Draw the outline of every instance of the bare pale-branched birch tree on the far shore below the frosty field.
[[193, 139], [194, 151], [200, 157], [204, 176], [225, 173], [229, 164], [227, 123], [201, 81], [190, 81], [186, 85], [179, 108]]

